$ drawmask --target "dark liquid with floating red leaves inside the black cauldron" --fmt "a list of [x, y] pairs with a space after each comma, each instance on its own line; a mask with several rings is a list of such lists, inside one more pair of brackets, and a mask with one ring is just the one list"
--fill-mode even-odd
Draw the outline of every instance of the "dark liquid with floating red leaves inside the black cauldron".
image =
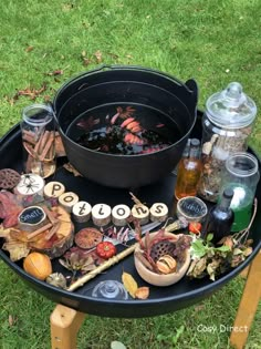
[[66, 134], [86, 148], [118, 155], [157, 152], [181, 137], [175, 122], [158, 110], [124, 103], [101, 105], [81, 114]]

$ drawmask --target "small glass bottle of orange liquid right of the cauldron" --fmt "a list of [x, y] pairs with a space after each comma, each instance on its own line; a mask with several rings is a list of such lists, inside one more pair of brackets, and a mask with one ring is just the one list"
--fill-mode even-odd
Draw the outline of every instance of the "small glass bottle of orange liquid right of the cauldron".
[[201, 170], [200, 142], [198, 138], [191, 138], [188, 156], [185, 154], [178, 164], [175, 186], [175, 196], [177, 199], [197, 195], [197, 185]]

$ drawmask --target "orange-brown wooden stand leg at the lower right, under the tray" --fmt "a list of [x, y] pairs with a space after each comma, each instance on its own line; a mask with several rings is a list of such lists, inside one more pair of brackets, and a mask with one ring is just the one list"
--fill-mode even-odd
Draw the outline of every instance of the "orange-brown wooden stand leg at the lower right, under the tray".
[[231, 345], [242, 349], [247, 342], [249, 330], [261, 297], [261, 252], [251, 263], [243, 294], [230, 336]]

